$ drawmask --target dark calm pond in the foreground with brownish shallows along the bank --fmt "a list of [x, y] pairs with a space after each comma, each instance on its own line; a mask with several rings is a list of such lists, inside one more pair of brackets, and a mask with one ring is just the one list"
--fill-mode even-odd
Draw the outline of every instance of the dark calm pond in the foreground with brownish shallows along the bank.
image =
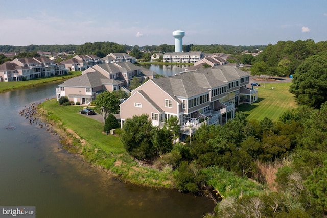
[[19, 115], [54, 98], [57, 85], [0, 94], [0, 206], [36, 206], [39, 218], [202, 217], [213, 211], [206, 197], [120, 182]]

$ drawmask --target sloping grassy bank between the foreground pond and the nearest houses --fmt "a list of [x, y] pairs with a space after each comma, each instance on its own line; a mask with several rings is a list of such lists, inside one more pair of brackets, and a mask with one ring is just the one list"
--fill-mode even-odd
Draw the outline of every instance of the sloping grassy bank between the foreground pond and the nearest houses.
[[[122, 179], [146, 186], [172, 188], [172, 171], [141, 167], [126, 152], [118, 136], [103, 133], [103, 123], [79, 114], [80, 106], [59, 106], [56, 99], [39, 105], [39, 113], [55, 123], [65, 149], [80, 153], [85, 160], [119, 175]], [[78, 136], [74, 133], [78, 133]], [[80, 137], [80, 138], [78, 138]]]

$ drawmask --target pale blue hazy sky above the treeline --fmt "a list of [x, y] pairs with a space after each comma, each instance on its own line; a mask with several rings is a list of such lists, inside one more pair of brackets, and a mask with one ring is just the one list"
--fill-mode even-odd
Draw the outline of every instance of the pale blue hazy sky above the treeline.
[[327, 41], [326, 0], [1, 0], [0, 45], [268, 45]]

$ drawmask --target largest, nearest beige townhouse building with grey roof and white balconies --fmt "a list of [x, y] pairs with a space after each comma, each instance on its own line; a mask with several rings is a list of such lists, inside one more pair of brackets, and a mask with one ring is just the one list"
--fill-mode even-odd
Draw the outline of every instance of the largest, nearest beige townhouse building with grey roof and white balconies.
[[227, 65], [148, 80], [120, 105], [121, 126], [142, 114], [160, 127], [177, 117], [184, 137], [204, 123], [222, 125], [235, 116], [236, 103], [258, 100], [258, 90], [246, 88], [248, 83], [249, 74]]

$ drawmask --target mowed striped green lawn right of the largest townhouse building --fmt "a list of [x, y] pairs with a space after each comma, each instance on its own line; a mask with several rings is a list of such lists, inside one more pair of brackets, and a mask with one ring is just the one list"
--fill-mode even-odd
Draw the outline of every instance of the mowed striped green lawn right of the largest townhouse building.
[[262, 120], [265, 117], [278, 120], [285, 111], [297, 107], [294, 95], [288, 91], [291, 84], [266, 83], [266, 88], [263, 84], [258, 86], [258, 101], [251, 105], [239, 105], [237, 112], [243, 112], [249, 120]]

